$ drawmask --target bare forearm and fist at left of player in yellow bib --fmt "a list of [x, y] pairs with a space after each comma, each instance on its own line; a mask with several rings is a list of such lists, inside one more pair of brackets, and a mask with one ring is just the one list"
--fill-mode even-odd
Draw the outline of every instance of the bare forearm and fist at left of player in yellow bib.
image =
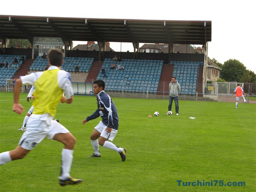
[[16, 80], [14, 90], [13, 90], [13, 95], [14, 95], [13, 111], [19, 115], [22, 112], [24, 112], [24, 107], [20, 105], [20, 101], [19, 101], [21, 85], [22, 85], [21, 79]]

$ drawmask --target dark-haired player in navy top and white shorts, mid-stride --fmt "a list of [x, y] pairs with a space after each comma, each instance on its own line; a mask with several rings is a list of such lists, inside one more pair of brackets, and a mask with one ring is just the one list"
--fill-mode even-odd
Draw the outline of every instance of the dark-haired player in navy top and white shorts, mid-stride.
[[[83, 120], [83, 125], [98, 117], [102, 120], [96, 127], [94, 127], [93, 133], [90, 136], [90, 140], [93, 146], [94, 153], [88, 157], [100, 157], [99, 145], [106, 147], [110, 150], [118, 152], [122, 158], [122, 161], [126, 159], [126, 149], [120, 148], [114, 145], [112, 142], [115, 135], [118, 132], [118, 113], [115, 104], [111, 100], [110, 96], [104, 92], [105, 82], [103, 80], [95, 80], [93, 82], [93, 92], [97, 98], [98, 109], [90, 116]], [[98, 140], [98, 138], [100, 138]]]

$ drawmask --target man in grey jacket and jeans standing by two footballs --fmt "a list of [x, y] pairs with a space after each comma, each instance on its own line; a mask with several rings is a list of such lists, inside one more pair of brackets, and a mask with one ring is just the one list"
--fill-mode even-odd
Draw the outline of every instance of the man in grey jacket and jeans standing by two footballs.
[[170, 97], [169, 97], [168, 111], [171, 111], [171, 107], [173, 105], [173, 100], [174, 100], [176, 115], [179, 115], [178, 93], [181, 92], [181, 86], [176, 81], [176, 77], [171, 78], [171, 82], [169, 84], [169, 92], [170, 92]]

